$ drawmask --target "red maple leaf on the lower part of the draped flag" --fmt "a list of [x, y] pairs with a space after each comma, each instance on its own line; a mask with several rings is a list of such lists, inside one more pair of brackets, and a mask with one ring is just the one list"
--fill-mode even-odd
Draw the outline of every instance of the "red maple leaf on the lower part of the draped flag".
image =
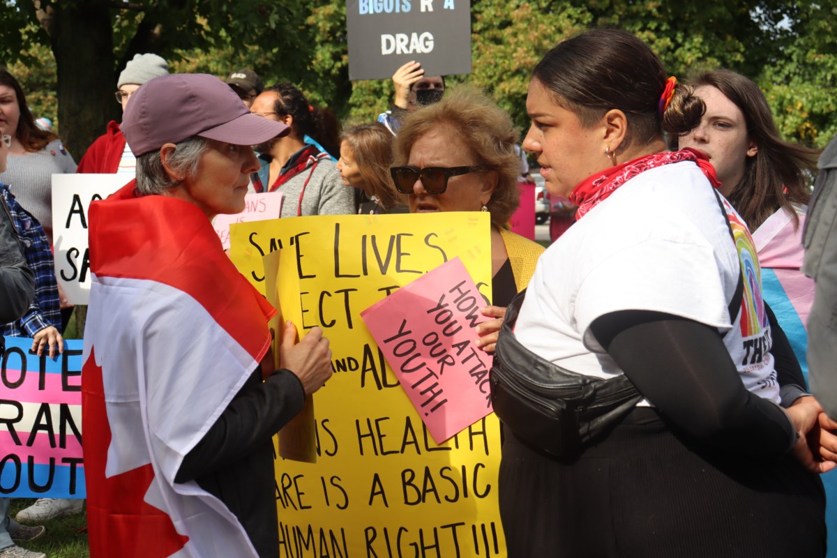
[[[189, 538], [177, 533], [168, 514], [145, 501], [154, 480], [151, 463], [105, 478], [111, 431], [102, 369], [92, 348], [81, 389], [90, 556], [150, 558], [176, 553]], [[144, 448], [144, 441], [137, 440], [136, 447]]]

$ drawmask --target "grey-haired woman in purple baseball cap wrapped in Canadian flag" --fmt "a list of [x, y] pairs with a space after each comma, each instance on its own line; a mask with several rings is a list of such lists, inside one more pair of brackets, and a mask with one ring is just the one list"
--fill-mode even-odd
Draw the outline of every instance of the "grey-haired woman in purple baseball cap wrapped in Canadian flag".
[[286, 324], [210, 223], [244, 209], [251, 145], [288, 126], [229, 86], [166, 75], [131, 98], [136, 182], [90, 207], [82, 380], [90, 555], [279, 555], [272, 436], [331, 377], [319, 328]]

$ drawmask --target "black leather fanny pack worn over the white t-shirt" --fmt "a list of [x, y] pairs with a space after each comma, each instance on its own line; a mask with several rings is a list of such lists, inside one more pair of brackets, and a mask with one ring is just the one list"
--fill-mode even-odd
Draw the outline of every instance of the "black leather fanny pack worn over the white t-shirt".
[[523, 291], [511, 301], [490, 371], [491, 404], [518, 438], [570, 457], [614, 427], [643, 396], [628, 376], [603, 379], [557, 366], [526, 349], [514, 326]]

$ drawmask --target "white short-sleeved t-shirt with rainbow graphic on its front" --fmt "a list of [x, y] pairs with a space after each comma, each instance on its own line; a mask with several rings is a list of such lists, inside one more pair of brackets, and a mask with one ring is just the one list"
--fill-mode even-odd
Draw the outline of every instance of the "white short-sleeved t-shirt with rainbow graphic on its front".
[[[744, 386], [779, 401], [756, 248], [691, 161], [644, 171], [569, 228], [538, 260], [515, 334], [548, 361], [588, 376], [621, 374], [590, 325], [619, 310], [678, 315], [726, 331]], [[742, 310], [728, 306], [744, 270]], [[642, 404], [647, 405], [647, 402]]]

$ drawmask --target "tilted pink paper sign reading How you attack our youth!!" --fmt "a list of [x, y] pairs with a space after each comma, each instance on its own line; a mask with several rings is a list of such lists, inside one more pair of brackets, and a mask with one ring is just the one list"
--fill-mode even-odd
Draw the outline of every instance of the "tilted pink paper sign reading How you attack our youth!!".
[[455, 258], [361, 312], [436, 443], [491, 412], [491, 357], [475, 330], [485, 304]]

